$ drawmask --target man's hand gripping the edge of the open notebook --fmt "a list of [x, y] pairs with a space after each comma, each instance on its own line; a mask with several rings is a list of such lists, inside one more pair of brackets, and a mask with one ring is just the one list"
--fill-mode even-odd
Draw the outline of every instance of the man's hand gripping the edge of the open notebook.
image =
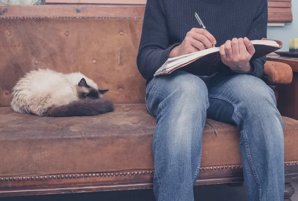
[[220, 47], [223, 63], [236, 73], [248, 73], [252, 71], [249, 63], [255, 49], [248, 38], [233, 38]]

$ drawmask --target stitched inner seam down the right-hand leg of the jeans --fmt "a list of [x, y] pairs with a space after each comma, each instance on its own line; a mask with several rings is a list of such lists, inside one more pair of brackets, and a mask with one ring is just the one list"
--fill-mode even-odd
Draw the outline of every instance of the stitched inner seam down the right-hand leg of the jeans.
[[246, 133], [245, 133], [245, 120], [243, 118], [243, 116], [236, 110], [236, 106], [235, 104], [233, 104], [230, 100], [228, 100], [227, 98], [225, 97], [221, 97], [221, 96], [217, 96], [217, 95], [211, 95], [209, 94], [208, 95], [210, 98], [218, 98], [218, 99], [221, 99], [221, 100], [224, 100], [226, 102], [228, 102], [229, 104], [231, 104], [233, 107], [234, 107], [234, 114], [243, 121], [243, 139], [244, 139], [244, 144], [245, 144], [245, 153], [246, 153], [246, 157], [248, 159], [248, 162], [249, 162], [249, 165], [250, 165], [250, 168], [251, 168], [251, 171], [254, 175], [254, 178], [256, 180], [256, 183], [257, 183], [257, 186], [258, 186], [258, 190], [259, 190], [259, 200], [261, 200], [261, 189], [260, 189], [260, 183], [259, 183], [259, 178], [257, 176], [257, 173], [255, 171], [255, 168], [254, 168], [254, 165], [251, 161], [251, 158], [250, 158], [250, 154], [249, 154], [249, 149], [248, 149], [248, 145], [247, 145], [247, 139], [246, 139]]

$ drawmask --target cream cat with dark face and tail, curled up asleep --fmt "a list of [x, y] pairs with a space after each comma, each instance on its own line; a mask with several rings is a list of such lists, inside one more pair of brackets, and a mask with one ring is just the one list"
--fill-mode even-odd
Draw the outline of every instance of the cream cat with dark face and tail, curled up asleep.
[[38, 69], [16, 83], [10, 105], [15, 112], [37, 116], [93, 116], [114, 110], [113, 103], [103, 99], [107, 91], [80, 72]]

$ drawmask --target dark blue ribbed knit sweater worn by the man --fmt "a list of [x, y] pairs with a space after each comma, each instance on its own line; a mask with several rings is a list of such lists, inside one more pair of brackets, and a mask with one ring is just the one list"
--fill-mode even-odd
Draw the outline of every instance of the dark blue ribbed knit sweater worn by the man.
[[[193, 27], [199, 27], [197, 12], [220, 47], [226, 40], [267, 37], [267, 0], [147, 0], [137, 57], [138, 68], [147, 80], [168, 59], [172, 48], [182, 43]], [[251, 61], [249, 74], [261, 77], [266, 57]], [[182, 69], [182, 68], [180, 68]], [[223, 65], [223, 71], [230, 71]], [[195, 72], [200, 75], [200, 71]]]

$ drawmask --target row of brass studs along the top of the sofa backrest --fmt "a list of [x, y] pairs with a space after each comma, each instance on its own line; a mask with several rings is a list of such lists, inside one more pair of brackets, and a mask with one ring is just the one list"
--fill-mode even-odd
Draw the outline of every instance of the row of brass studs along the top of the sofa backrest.
[[2, 16], [0, 19], [142, 19], [144, 17], [111, 16]]

